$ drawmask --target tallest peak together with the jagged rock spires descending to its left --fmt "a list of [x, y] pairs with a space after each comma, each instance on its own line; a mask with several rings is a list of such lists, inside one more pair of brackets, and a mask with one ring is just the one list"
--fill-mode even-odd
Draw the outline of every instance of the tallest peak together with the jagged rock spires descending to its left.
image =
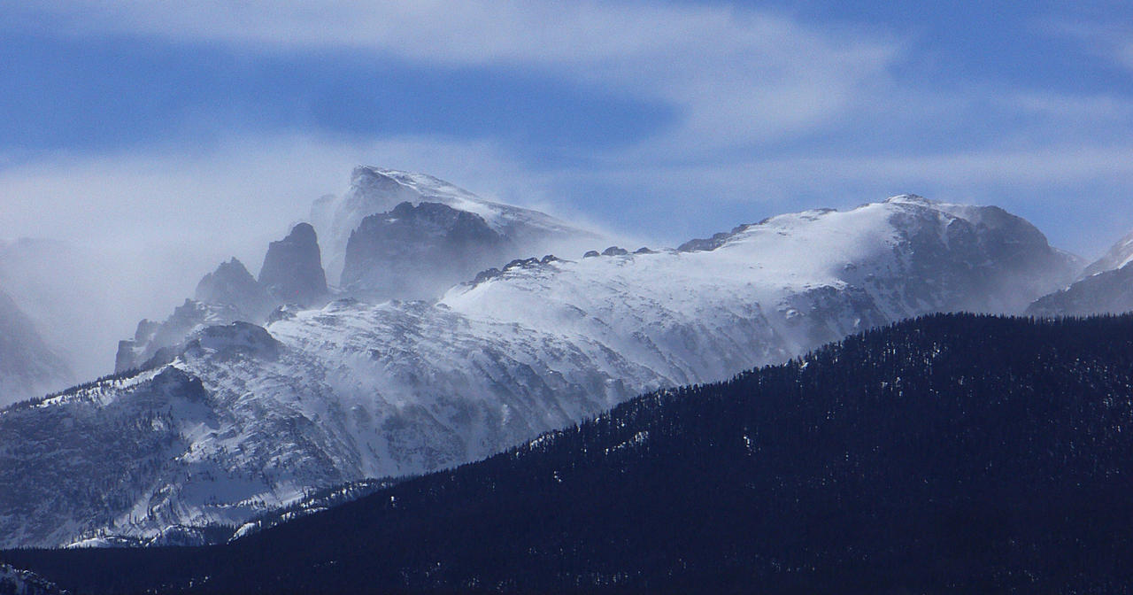
[[[262, 324], [276, 307], [321, 306], [333, 297], [437, 299], [517, 256], [581, 252], [574, 250], [580, 243], [600, 238], [432, 176], [365, 167], [355, 169], [349, 193], [316, 201], [312, 218], [322, 231], [299, 223], [271, 243], [258, 279], [233, 257], [205, 275], [168, 318], [140, 321], [134, 338], [119, 342], [114, 372], [139, 367], [207, 325]], [[327, 279], [342, 287], [329, 288]]]

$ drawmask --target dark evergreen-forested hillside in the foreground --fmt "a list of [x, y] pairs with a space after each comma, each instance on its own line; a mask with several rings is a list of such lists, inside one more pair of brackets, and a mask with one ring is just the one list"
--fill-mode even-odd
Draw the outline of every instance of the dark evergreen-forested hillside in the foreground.
[[1133, 593], [1133, 317], [937, 315], [74, 593]]

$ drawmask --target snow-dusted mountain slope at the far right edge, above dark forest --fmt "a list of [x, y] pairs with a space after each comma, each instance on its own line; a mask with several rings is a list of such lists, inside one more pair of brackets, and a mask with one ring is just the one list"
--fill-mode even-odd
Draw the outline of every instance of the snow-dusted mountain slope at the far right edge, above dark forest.
[[1133, 311], [1133, 233], [1085, 267], [1072, 286], [1034, 300], [1034, 316], [1089, 316]]

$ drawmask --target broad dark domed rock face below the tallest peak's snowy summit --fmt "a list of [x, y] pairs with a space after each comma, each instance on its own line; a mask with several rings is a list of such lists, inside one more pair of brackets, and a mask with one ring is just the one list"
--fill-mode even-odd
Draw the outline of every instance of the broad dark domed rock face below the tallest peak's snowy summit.
[[378, 300], [437, 297], [514, 249], [480, 215], [404, 202], [363, 219], [350, 235], [342, 288]]

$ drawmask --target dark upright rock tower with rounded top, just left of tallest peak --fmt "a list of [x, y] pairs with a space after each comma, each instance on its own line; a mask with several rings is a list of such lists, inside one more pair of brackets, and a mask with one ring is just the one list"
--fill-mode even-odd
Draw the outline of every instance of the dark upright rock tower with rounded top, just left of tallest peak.
[[312, 306], [326, 296], [318, 237], [310, 223], [299, 223], [267, 247], [259, 284], [278, 303]]

